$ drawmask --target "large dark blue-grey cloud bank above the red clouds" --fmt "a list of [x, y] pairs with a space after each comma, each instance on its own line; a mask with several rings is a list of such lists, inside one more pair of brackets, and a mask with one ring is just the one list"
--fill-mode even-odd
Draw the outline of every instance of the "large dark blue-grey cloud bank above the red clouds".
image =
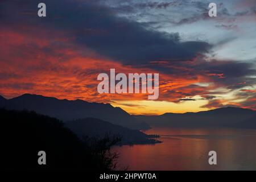
[[3, 11], [0, 20], [14, 26], [23, 24], [63, 31], [77, 44], [125, 64], [143, 64], [152, 60], [188, 60], [210, 48], [205, 42], [180, 42], [178, 34], [146, 30], [140, 23], [119, 18], [108, 8], [95, 3], [44, 2], [47, 5], [47, 17], [38, 18], [39, 1], [3, 1], [2, 9], [13, 7], [13, 11]]

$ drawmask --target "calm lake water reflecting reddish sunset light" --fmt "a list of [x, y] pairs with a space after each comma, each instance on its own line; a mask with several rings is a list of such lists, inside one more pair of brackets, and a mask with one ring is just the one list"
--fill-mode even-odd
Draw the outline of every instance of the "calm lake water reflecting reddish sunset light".
[[[256, 170], [256, 130], [156, 127], [163, 143], [116, 146], [119, 167], [129, 170]], [[209, 151], [217, 165], [209, 165]]]

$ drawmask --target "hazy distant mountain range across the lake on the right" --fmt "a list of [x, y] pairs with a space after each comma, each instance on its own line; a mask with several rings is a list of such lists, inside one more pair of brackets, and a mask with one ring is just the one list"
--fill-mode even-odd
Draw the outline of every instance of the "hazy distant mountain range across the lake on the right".
[[[150, 126], [161, 127], [248, 127], [248, 123], [243, 126], [243, 121], [255, 117], [256, 111], [242, 109], [238, 107], [222, 107], [198, 113], [165, 113], [163, 115], [135, 115], [141, 122], [147, 122]], [[251, 127], [253, 121], [251, 121]], [[256, 120], [254, 120], [256, 122]], [[256, 127], [255, 127], [256, 129]]]

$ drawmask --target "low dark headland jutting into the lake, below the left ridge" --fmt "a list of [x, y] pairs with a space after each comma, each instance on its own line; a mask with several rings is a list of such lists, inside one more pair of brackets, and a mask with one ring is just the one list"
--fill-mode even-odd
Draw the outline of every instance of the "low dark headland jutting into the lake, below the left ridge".
[[96, 118], [77, 119], [75, 121], [65, 122], [65, 126], [69, 127], [81, 138], [84, 136], [104, 138], [106, 134], [121, 137], [120, 144], [154, 144], [159, 143], [158, 140], [150, 139], [157, 137], [155, 135], [147, 135], [138, 130], [127, 129], [122, 126], [114, 125], [110, 122], [102, 121]]

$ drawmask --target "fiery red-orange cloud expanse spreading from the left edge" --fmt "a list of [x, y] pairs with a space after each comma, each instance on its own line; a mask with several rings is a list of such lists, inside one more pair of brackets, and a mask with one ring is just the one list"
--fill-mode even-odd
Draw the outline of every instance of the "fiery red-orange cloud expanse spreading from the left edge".
[[[151, 67], [149, 65], [124, 65], [102, 57], [89, 48], [78, 46], [63, 32], [54, 30], [39, 30], [38, 32], [36, 30], [35, 33], [34, 31], [27, 32], [22, 27], [20, 29], [22, 31], [7, 28], [0, 30], [0, 93], [7, 98], [24, 93], [42, 94], [60, 99], [111, 103], [126, 107], [133, 114], [147, 112], [157, 114], [168, 111], [168, 108], [158, 110], [157, 107], [161, 107], [160, 102], [157, 104], [145, 102], [148, 106], [141, 106], [141, 102], [138, 101], [147, 100], [147, 94], [98, 94], [98, 74], [109, 73], [110, 68], [115, 68], [116, 73], [160, 73], [158, 101], [176, 104], [179, 104], [180, 98], [204, 96], [210, 93], [209, 90], [219, 86], [218, 84], [200, 86], [196, 83], [214, 82], [216, 77], [225, 78], [224, 73], [195, 70], [193, 67], [201, 64], [200, 55], [185, 63], [189, 67], [184, 67], [183, 63], [170, 64], [169, 61], [152, 61]], [[157, 69], [159, 66], [163, 67], [164, 71]], [[254, 93], [255, 90], [242, 91]], [[123, 101], [129, 101], [129, 104]], [[191, 102], [197, 103], [196, 110], [193, 111], [199, 111], [205, 110], [203, 107], [223, 106], [224, 101], [209, 101], [201, 109], [199, 103], [203, 104], [203, 102], [185, 101], [182, 107], [189, 110], [193, 107]], [[156, 104], [156, 109], [150, 109], [154, 104]], [[168, 103], [164, 106], [177, 107], [177, 105]], [[171, 110], [175, 108], [170, 108]], [[179, 110], [175, 111], [183, 112], [184, 110], [179, 107]]]

